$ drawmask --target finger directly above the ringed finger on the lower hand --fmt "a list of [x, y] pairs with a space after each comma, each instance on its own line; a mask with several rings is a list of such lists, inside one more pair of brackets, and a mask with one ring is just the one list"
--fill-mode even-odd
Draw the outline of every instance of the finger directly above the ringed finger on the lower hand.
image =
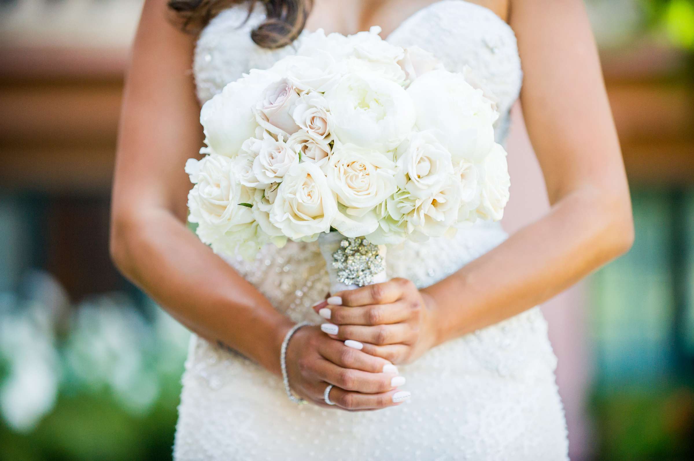
[[362, 394], [380, 394], [389, 392], [405, 384], [403, 376], [391, 373], [369, 373], [360, 369], [343, 368], [330, 360], [319, 360], [314, 372], [321, 381], [330, 383], [344, 390], [362, 392]]

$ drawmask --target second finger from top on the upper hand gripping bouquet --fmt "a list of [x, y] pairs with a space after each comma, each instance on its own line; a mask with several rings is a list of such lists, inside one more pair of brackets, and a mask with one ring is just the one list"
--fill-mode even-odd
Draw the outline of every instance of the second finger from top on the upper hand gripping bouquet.
[[319, 315], [336, 325], [382, 325], [405, 322], [410, 309], [404, 302], [362, 307], [325, 306]]

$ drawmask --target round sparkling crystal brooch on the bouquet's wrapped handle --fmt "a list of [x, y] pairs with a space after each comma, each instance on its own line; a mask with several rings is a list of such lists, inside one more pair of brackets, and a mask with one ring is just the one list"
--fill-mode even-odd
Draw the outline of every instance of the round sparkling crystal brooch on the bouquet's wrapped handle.
[[337, 269], [337, 279], [345, 285], [365, 286], [385, 269], [378, 245], [363, 237], [344, 238], [340, 247], [332, 253], [332, 267]]

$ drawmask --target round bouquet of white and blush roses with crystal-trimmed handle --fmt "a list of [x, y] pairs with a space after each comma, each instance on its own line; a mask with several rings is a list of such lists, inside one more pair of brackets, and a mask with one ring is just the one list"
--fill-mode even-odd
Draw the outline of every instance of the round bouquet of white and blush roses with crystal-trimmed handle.
[[[469, 69], [382, 40], [317, 31], [203, 105], [189, 220], [215, 252], [314, 241], [331, 281], [382, 281], [384, 244], [499, 220], [509, 198], [493, 96]], [[334, 232], [330, 232], [334, 231]], [[380, 246], [379, 246], [380, 245]]]

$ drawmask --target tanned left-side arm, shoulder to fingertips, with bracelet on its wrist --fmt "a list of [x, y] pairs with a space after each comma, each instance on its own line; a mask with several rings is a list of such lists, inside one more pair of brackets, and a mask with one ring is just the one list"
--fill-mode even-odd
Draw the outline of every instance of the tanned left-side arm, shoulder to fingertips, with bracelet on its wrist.
[[[112, 256], [189, 329], [279, 374], [280, 344], [292, 322], [185, 226], [191, 184], [183, 167], [203, 141], [194, 40], [169, 24], [165, 0], [145, 2], [119, 127]], [[387, 360], [348, 349], [316, 327], [297, 331], [287, 367], [293, 390], [314, 403], [331, 383], [330, 398], [342, 408], [396, 404]]]

